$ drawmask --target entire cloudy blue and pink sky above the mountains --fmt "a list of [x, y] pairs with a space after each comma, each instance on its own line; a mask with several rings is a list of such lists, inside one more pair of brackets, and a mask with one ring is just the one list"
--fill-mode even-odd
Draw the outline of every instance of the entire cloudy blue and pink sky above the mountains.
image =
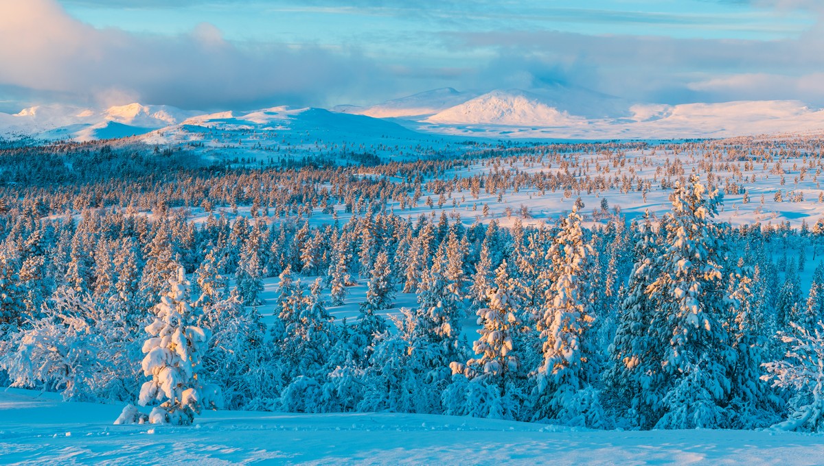
[[[136, 6], [137, 5], [137, 6]], [[0, 112], [374, 104], [453, 87], [824, 106], [822, 0], [0, 0]]]

